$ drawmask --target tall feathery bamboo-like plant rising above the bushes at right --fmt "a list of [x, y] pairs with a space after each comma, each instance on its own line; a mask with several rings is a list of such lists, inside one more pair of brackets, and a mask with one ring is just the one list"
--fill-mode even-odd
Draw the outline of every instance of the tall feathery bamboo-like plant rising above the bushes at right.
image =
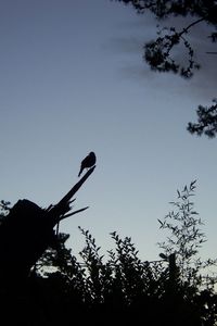
[[170, 211], [163, 221], [158, 220], [161, 229], [167, 231], [166, 242], [158, 242], [165, 258], [176, 253], [176, 263], [179, 268], [179, 280], [187, 287], [193, 286], [196, 290], [204, 286], [214, 288], [216, 278], [203, 277], [203, 271], [216, 265], [217, 260], [202, 261], [199, 250], [206, 241], [201, 231], [203, 222], [194, 210], [191, 198], [194, 196], [196, 180], [182, 191], [177, 190], [178, 200], [171, 202], [175, 210]]

